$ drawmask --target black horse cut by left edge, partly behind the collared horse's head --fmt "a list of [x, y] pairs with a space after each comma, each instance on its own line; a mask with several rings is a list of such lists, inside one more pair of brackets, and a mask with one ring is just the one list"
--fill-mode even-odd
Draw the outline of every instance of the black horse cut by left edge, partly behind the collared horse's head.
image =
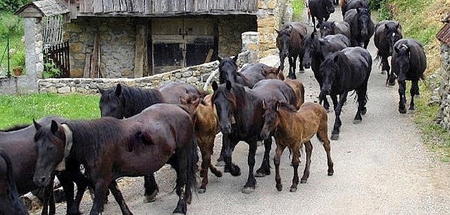
[[[63, 122], [65, 119], [50, 116], [40, 119], [39, 123], [49, 123], [51, 120]], [[34, 136], [35, 128], [32, 125], [15, 126], [7, 131], [0, 131], [0, 146], [8, 153], [8, 156], [11, 159], [13, 180], [18, 189], [18, 193], [22, 195], [39, 189], [39, 186], [33, 183], [33, 172], [37, 160], [37, 149], [34, 142]], [[68, 160], [67, 164], [65, 169], [56, 171], [56, 176], [63, 186], [67, 203], [67, 214], [80, 214], [79, 207], [82, 196], [88, 185], [87, 179], [80, 173], [80, 164], [77, 164], [77, 162], [73, 160]], [[0, 169], [6, 169], [6, 167], [2, 167], [0, 164]], [[75, 200], [73, 182], [77, 184], [77, 195]], [[0, 182], [0, 184], [3, 183], [5, 182]], [[2, 189], [0, 188], [0, 190]], [[42, 207], [42, 214], [55, 214], [53, 181], [45, 188], [42, 188], [42, 190], [44, 191], [44, 207]], [[0, 196], [4, 196], [4, 193], [0, 192]]]

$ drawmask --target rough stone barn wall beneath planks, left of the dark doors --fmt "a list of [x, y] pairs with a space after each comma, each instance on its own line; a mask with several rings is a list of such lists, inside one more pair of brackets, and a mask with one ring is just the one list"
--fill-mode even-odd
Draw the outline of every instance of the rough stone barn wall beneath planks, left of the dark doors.
[[132, 18], [82, 18], [65, 25], [70, 41], [70, 76], [83, 77], [87, 54], [99, 34], [103, 77], [134, 77], [136, 30]]

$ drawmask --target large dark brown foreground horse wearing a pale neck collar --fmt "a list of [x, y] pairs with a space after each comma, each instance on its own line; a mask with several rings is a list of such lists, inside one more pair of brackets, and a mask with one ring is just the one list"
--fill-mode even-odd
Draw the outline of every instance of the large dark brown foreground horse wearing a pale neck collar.
[[102, 117], [68, 120], [63, 124], [35, 123], [38, 152], [34, 181], [47, 185], [56, 164], [75, 159], [87, 168], [95, 185], [90, 214], [99, 214], [108, 188], [123, 214], [131, 214], [118, 190], [115, 178], [144, 176], [167, 162], [177, 172], [179, 196], [174, 213], [185, 214], [196, 185], [196, 142], [194, 123], [183, 107], [156, 104], [128, 119]]

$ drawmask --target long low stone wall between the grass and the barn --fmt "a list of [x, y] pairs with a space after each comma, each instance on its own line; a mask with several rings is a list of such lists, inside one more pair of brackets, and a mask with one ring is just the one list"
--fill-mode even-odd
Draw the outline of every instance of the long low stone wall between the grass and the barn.
[[67, 79], [40, 79], [39, 93], [82, 93], [96, 94], [97, 86], [101, 88], [111, 88], [118, 83], [127, 86], [137, 86], [140, 88], [156, 89], [168, 82], [186, 82], [192, 84], [199, 89], [204, 87], [204, 82], [208, 79], [209, 74], [218, 68], [218, 61], [186, 67], [172, 72], [155, 74], [150, 77], [142, 77], [137, 79], [85, 79], [85, 78], [67, 78]]

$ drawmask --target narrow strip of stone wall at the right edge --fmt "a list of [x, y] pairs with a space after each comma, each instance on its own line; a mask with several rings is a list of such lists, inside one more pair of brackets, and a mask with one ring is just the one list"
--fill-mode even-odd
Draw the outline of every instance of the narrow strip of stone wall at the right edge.
[[439, 84], [440, 108], [437, 122], [450, 131], [450, 46], [441, 46], [441, 72]]

